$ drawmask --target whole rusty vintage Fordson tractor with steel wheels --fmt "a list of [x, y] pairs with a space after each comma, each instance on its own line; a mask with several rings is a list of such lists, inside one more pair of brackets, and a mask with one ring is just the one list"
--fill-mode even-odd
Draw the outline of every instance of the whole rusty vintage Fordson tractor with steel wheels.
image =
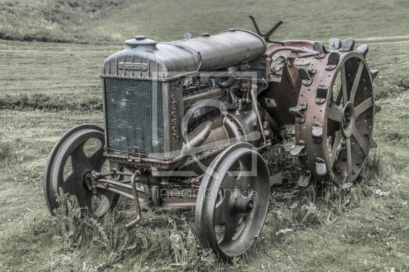
[[[251, 18], [257, 33], [187, 33], [161, 43], [136, 36], [108, 57], [100, 75], [105, 127], [77, 126], [54, 146], [44, 170], [50, 212], [59, 188], [96, 217], [121, 194], [133, 199], [137, 217], [126, 228], [141, 219], [139, 202], [195, 206], [203, 247], [233, 258], [252, 245], [267, 214], [270, 176], [261, 154], [287, 137], [295, 136], [289, 153], [300, 161], [300, 187], [315, 180], [323, 193], [354, 182], [376, 146], [380, 110], [368, 46], [354, 50], [352, 38], [330, 39], [328, 47], [270, 41], [282, 22], [263, 34]], [[92, 138], [100, 146], [86, 156]], [[103, 199], [92, 208], [94, 195]]]

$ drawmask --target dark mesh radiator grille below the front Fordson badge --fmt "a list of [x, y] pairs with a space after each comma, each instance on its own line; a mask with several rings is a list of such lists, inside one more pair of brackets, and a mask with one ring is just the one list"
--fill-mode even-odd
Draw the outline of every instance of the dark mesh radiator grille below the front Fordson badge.
[[142, 158], [164, 157], [162, 82], [105, 78], [105, 105], [107, 145], [123, 151], [109, 153], [137, 146]]

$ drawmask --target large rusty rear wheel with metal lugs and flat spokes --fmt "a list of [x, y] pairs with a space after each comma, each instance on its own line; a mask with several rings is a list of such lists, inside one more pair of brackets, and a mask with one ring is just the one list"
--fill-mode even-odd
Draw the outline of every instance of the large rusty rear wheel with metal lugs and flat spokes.
[[[367, 48], [365, 53], [331, 50], [308, 67], [316, 72], [312, 83], [303, 81], [299, 94], [305, 120], [296, 118], [296, 147], [302, 149], [300, 181], [312, 175], [327, 189], [354, 182], [370, 148], [376, 147], [372, 132], [380, 107], [375, 105], [372, 83], [377, 71], [369, 70]], [[339, 61], [334, 63], [337, 54]]]

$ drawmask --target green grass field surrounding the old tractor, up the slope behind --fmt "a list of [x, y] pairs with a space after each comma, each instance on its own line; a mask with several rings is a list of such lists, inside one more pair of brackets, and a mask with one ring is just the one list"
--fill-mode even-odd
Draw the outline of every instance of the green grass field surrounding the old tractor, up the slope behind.
[[[89, 7], [93, 3], [89, 2]], [[74, 22], [65, 25], [66, 19], [57, 18], [62, 26], [57, 34], [65, 34], [71, 43], [0, 40], [0, 106], [7, 106], [0, 110], [1, 272], [183, 269], [174, 265], [177, 250], [172, 248], [170, 235], [177, 230], [185, 234], [180, 234], [185, 245], [198, 242], [191, 208], [142, 207], [139, 227], [127, 232], [123, 226], [135, 212], [132, 202], [121, 199], [105, 220], [75, 225], [81, 227], [79, 240], [79, 236], [61, 232], [61, 218], [53, 219], [49, 214], [42, 189], [43, 167], [53, 145], [67, 130], [82, 123], [103, 126], [100, 109], [85, 104], [100, 103], [102, 63], [122, 50], [125, 39], [142, 34], [165, 41], [179, 39], [185, 32], [197, 36], [231, 27], [253, 30], [247, 18], [250, 14], [258, 19], [262, 30], [283, 20], [285, 24], [275, 34], [276, 40], [310, 39], [326, 44], [332, 37], [354, 37], [355, 47], [369, 45], [370, 68], [380, 71], [375, 80], [377, 104], [382, 107], [374, 128], [378, 149], [371, 152], [359, 185], [362, 194], [356, 200], [352, 197], [349, 203], [314, 199], [311, 190], [297, 188], [293, 168], [296, 163], [291, 163], [284, 172], [283, 184], [271, 189], [262, 235], [247, 255], [225, 263], [191, 246], [187, 254], [192, 254], [196, 264], [190, 263], [186, 270], [409, 271], [406, 1], [188, 1], [183, 9], [174, 1], [142, 1], [129, 6], [122, 5], [125, 1], [118, 2], [119, 6], [115, 3], [104, 2], [102, 9], [111, 12], [101, 10], [91, 19], [70, 10], [73, 18], [83, 16], [86, 27]], [[35, 14], [40, 12], [33, 11], [33, 21], [39, 21], [41, 16]], [[25, 29], [23, 24], [9, 20], [10, 10], [3, 14], [0, 32], [7, 30], [4, 20], [8, 20], [10, 35], [14, 33], [11, 30], [20, 28], [22, 36], [13, 36], [16, 40], [25, 40], [24, 33], [35, 29]], [[17, 19], [22, 16], [14, 14]], [[77, 40], [70, 36], [74, 27]], [[89, 44], [76, 44], [85, 42]], [[29, 103], [40, 99], [38, 94], [43, 95], [43, 110], [33, 110]], [[23, 104], [26, 106], [20, 109], [8, 109], [10, 105], [18, 108]], [[390, 194], [379, 197], [375, 194], [378, 189]], [[295, 200], [306, 206], [291, 208]], [[189, 228], [193, 236], [189, 235]], [[293, 231], [276, 235], [285, 228]], [[206, 260], [201, 261], [200, 257]]]

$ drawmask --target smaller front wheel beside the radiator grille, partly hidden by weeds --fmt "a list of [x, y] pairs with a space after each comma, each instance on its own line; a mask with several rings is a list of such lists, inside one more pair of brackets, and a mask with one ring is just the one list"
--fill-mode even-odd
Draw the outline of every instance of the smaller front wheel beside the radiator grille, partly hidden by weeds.
[[[87, 157], [84, 153], [84, 145], [92, 138], [99, 141], [99, 147]], [[55, 144], [48, 157], [43, 178], [44, 195], [52, 214], [53, 210], [59, 207], [57, 202], [59, 188], [62, 188], [64, 193], [75, 195], [78, 207], [81, 207], [81, 215], [84, 215], [85, 211], [88, 210], [93, 216], [101, 217], [115, 207], [120, 195], [107, 189], [98, 188], [98, 192], [103, 198], [102, 201], [97, 202], [97, 207], [93, 209], [93, 193], [86, 184], [87, 174], [92, 170], [100, 172], [106, 161], [106, 157], [103, 155], [104, 138], [102, 128], [95, 125], [80, 125], [67, 131]], [[70, 157], [72, 170], [64, 177], [64, 167], [66, 163], [70, 163]]]

